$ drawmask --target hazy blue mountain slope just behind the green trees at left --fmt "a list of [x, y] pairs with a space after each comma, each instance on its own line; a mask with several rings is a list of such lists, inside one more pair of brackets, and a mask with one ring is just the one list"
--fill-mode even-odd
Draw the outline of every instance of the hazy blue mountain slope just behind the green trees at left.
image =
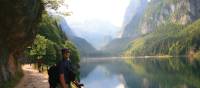
[[88, 41], [75, 35], [75, 33], [69, 27], [66, 19], [62, 16], [60, 18], [59, 25], [68, 36], [69, 40], [75, 44], [81, 56], [91, 56], [93, 53], [97, 52], [96, 49]]

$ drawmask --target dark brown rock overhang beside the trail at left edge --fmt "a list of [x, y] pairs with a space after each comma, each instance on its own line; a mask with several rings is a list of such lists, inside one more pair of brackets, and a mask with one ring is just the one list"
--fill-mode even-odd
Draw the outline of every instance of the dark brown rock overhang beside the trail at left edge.
[[1, 0], [0, 87], [20, 70], [17, 58], [36, 34], [43, 6], [40, 0]]

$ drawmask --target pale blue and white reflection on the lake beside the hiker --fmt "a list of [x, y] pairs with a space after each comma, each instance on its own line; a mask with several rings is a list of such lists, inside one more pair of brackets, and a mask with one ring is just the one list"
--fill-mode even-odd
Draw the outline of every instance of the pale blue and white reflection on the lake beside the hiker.
[[97, 66], [81, 80], [85, 88], [125, 88], [123, 75], [110, 74], [104, 66]]

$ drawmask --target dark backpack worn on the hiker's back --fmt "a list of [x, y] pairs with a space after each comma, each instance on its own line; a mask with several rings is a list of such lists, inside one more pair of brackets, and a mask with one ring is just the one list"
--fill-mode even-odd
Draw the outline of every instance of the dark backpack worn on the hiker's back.
[[48, 69], [48, 75], [49, 75], [49, 84], [51, 88], [56, 88], [56, 86], [59, 83], [59, 73], [58, 73], [58, 66], [57, 65], [52, 65]]

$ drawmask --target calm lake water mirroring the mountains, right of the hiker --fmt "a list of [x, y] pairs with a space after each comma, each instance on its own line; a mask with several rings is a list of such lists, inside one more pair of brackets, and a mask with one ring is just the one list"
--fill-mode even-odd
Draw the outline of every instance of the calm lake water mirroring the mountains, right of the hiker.
[[85, 88], [200, 88], [200, 60], [84, 58]]

